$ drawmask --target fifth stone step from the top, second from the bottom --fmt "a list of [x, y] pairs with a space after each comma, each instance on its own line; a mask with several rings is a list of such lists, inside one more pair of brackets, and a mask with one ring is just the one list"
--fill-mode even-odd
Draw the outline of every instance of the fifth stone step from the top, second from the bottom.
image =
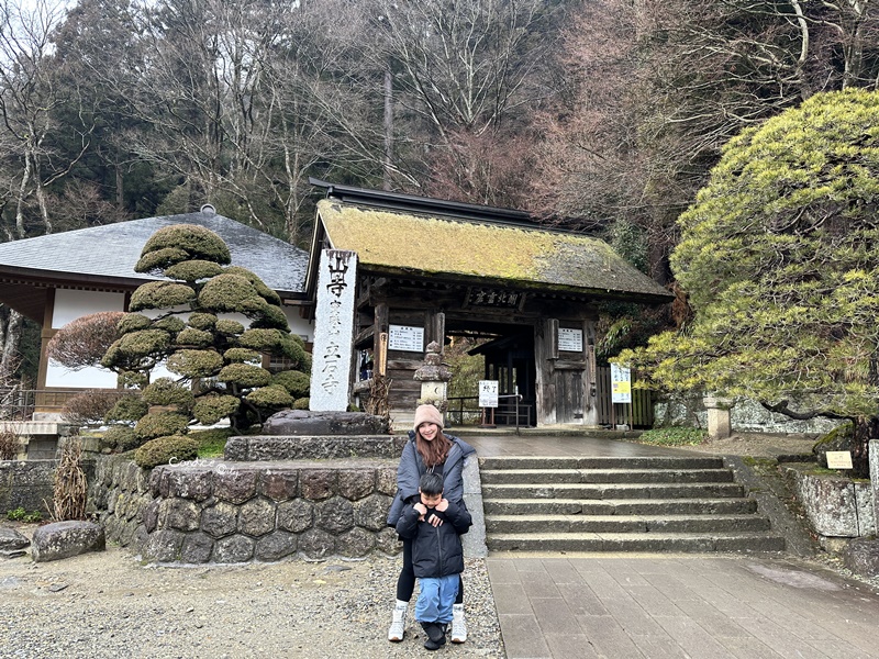
[[768, 530], [757, 515], [487, 515], [486, 532], [509, 535], [541, 533], [726, 533]]

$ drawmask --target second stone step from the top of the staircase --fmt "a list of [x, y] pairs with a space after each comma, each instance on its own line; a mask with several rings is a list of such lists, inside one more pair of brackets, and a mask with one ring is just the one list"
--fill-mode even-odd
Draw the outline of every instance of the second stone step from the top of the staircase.
[[482, 469], [482, 484], [502, 483], [721, 483], [730, 469]]

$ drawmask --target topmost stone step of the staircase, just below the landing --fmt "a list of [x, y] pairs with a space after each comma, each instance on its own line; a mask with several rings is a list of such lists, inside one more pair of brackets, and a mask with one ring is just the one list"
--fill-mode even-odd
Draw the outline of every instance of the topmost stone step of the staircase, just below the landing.
[[496, 456], [479, 458], [480, 471], [496, 469], [722, 469], [723, 466], [723, 458], [719, 456]]

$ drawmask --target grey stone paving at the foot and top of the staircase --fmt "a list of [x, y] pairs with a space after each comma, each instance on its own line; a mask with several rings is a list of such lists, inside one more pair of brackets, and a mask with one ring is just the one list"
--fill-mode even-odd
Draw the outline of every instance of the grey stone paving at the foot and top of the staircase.
[[[659, 455], [608, 439], [467, 437], [478, 455]], [[879, 593], [787, 555], [490, 554], [508, 659], [879, 659]]]

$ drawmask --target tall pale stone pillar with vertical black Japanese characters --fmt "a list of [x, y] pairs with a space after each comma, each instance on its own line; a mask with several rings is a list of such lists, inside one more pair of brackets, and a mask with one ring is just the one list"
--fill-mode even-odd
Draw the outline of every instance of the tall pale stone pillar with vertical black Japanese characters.
[[324, 249], [318, 272], [311, 410], [345, 412], [354, 340], [354, 288], [357, 255]]

